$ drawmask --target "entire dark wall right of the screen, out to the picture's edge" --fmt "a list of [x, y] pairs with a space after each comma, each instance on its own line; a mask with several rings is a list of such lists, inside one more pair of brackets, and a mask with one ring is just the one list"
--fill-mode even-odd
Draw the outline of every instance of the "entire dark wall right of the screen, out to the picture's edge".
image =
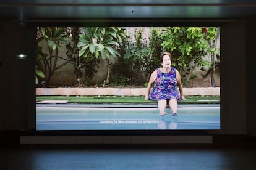
[[256, 137], [256, 18], [221, 26], [221, 134]]

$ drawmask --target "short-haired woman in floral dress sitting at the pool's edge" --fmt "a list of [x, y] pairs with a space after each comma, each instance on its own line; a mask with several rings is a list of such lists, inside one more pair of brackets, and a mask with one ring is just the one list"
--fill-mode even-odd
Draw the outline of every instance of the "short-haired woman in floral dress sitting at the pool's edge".
[[[157, 101], [160, 115], [162, 116], [166, 115], [165, 108], [169, 103], [172, 115], [177, 116], [177, 101], [186, 100], [183, 94], [181, 75], [176, 68], [171, 67], [171, 54], [169, 52], [161, 54], [160, 62], [162, 67], [156, 68], [151, 73], [145, 100]], [[151, 89], [151, 84], [153, 83], [154, 86]]]

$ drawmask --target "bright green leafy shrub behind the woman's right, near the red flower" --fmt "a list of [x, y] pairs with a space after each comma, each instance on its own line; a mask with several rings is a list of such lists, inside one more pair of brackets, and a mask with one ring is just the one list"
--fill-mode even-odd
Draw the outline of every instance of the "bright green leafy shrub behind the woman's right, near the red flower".
[[[215, 32], [207, 33], [210, 41], [215, 40]], [[171, 27], [161, 30], [161, 46], [164, 51], [171, 52], [173, 55], [172, 65], [180, 71], [182, 81], [186, 84], [189, 79], [197, 78], [193, 71], [200, 67], [205, 70], [210, 62], [203, 59], [210, 51], [208, 40], [202, 33], [200, 27]]]

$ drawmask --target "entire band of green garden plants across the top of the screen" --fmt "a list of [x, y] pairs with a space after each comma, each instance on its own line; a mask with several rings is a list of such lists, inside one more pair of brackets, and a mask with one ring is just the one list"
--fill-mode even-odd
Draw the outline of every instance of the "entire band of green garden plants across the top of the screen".
[[[205, 71], [204, 77], [213, 74], [220, 64], [220, 49], [216, 46], [218, 28], [208, 27], [203, 33], [202, 30], [200, 27], [151, 27], [148, 41], [143, 29], [135, 31], [131, 39], [125, 29], [119, 27], [40, 27], [36, 38], [36, 84], [38, 78], [49, 84], [54, 71], [69, 62], [74, 64], [78, 80], [83, 77], [87, 84], [97, 73], [101, 58], [108, 61], [108, 68], [111, 66], [112, 84], [145, 85], [153, 70], [160, 67], [161, 53], [168, 51], [173, 55], [173, 67], [179, 70], [186, 86], [189, 79], [197, 78], [195, 68]], [[40, 47], [41, 41], [45, 41], [47, 49]], [[66, 56], [59, 56], [61, 44], [66, 45]], [[207, 55], [211, 57], [210, 62], [205, 60]], [[111, 57], [116, 57], [115, 63], [109, 63]], [[58, 65], [58, 59], [66, 62]], [[108, 80], [109, 69], [107, 71]]]

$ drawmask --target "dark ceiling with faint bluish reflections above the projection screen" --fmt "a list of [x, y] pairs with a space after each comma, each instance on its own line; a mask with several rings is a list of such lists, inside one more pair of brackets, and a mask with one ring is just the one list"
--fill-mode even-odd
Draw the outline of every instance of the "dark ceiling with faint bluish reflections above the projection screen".
[[0, 20], [42, 25], [221, 25], [256, 16], [256, 0], [1, 0]]

